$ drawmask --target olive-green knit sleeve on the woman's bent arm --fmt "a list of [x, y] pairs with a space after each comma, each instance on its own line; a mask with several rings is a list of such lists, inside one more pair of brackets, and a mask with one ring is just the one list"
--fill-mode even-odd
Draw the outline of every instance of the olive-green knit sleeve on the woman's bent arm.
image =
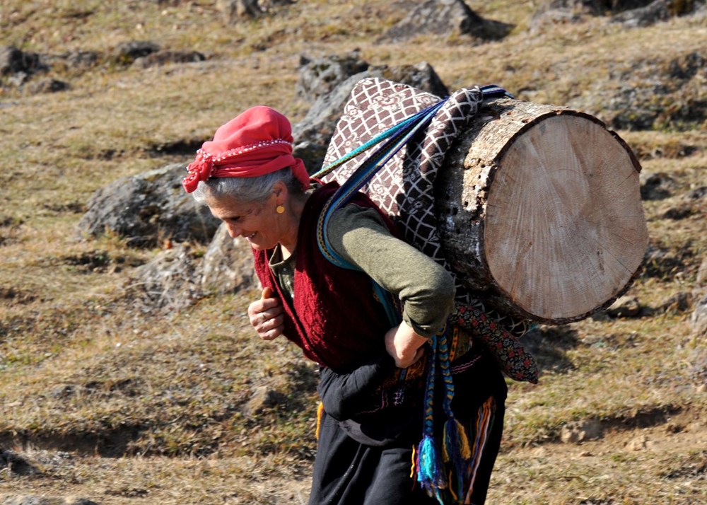
[[392, 236], [375, 209], [349, 204], [329, 220], [332, 248], [402, 302], [403, 320], [424, 337], [436, 334], [454, 308], [455, 287], [436, 261]]

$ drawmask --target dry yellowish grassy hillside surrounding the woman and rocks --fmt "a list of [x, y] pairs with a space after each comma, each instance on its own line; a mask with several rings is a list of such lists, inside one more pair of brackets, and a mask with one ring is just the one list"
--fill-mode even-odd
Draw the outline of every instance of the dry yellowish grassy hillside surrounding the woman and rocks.
[[[484, 18], [513, 23], [510, 35], [481, 45], [433, 35], [381, 43], [412, 2], [300, 0], [230, 24], [215, 3], [0, 5], [0, 47], [52, 62], [23, 86], [0, 76], [0, 451], [18, 458], [0, 457], [0, 503], [306, 502], [315, 368], [284, 341], [257, 341], [244, 317], [255, 292], [145, 313], [126, 296], [129, 279], [159, 250], [76, 237], [95, 190], [191, 158], [170, 146], [199, 144], [251, 105], [300, 120], [309, 107], [295, 95], [301, 55], [358, 48], [370, 64], [426, 61], [450, 89], [498, 83], [607, 122], [626, 89], [658, 86], [661, 71], [682, 69], [691, 54], [707, 58], [704, 15], [646, 28], [603, 16], [536, 28], [541, 2], [470, 1]], [[115, 57], [131, 40], [206, 60], [138, 69]], [[95, 60], [69, 64], [77, 52]], [[33, 92], [42, 79], [70, 87]], [[705, 79], [702, 66], [670, 103], [655, 95], [665, 119], [651, 129], [618, 132], [644, 182], [670, 181], [665, 197], [644, 203], [661, 254], [629, 292], [642, 315], [597, 315], [529, 337], [542, 376], [536, 386], [509, 383], [489, 503], [707, 501], [707, 348], [691, 332], [692, 306], [670, 303], [699, 288], [707, 250], [705, 199], [689, 196], [707, 185], [707, 124], [678, 120], [704, 107]], [[562, 442], [588, 422], [600, 438]]]

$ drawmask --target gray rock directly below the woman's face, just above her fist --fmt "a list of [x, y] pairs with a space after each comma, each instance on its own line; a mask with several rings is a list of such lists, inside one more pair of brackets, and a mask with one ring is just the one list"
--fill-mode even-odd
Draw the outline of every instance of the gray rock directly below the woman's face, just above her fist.
[[230, 238], [222, 224], [201, 260], [201, 291], [226, 294], [256, 286], [258, 279], [253, 255], [245, 238]]

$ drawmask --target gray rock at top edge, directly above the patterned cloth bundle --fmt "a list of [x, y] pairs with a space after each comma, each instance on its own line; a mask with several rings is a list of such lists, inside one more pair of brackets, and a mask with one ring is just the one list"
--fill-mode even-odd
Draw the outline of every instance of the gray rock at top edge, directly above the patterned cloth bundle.
[[481, 18], [462, 0], [427, 0], [412, 8], [380, 41], [400, 42], [423, 34], [441, 35], [450, 41], [499, 40], [512, 29], [508, 23]]

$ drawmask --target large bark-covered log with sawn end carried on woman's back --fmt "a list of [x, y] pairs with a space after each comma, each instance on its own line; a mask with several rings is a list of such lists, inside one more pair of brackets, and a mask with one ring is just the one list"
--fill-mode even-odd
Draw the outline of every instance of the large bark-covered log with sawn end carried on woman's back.
[[499, 99], [436, 180], [445, 255], [497, 308], [559, 324], [607, 307], [640, 269], [648, 231], [631, 149], [595, 117]]

